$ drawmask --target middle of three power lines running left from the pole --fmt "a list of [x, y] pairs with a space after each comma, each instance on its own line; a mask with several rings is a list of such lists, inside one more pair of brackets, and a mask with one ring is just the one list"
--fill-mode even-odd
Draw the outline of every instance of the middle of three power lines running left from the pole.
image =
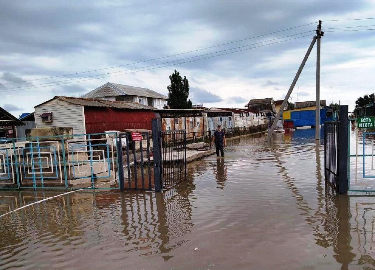
[[[216, 52], [210, 52], [210, 53], [205, 53], [205, 54], [201, 54], [201, 55], [190, 56], [190, 57], [187, 57], [187, 58], [177, 59], [177, 60], [173, 60], [173, 61], [167, 61], [167, 62], [163, 62], [163, 63], [159, 63], [159, 64], [147, 65], [147, 66], [139, 67], [139, 68], [130, 68], [128, 70], [113, 71], [113, 72], [109, 72], [109, 73], [102, 73], [102, 74], [96, 74], [96, 75], [85, 76], [85, 77], [80, 77], [80, 78], [60, 80], [60, 81], [49, 82], [49, 83], [40, 83], [40, 84], [37, 84], [37, 85], [33, 85], [33, 87], [34, 86], [42, 86], [42, 85], [48, 86], [48, 85], [55, 84], [55, 83], [70, 82], [70, 81], [73, 81], [73, 80], [80, 80], [80, 79], [92, 78], [92, 77], [97, 77], [97, 76], [110, 75], [110, 74], [115, 74], [115, 73], [121, 73], [121, 72], [124, 72], [124, 71], [138, 70], [140, 68], [148, 68], [148, 67], [154, 67], [154, 66], [157, 66], [157, 65], [174, 63], [174, 62], [183, 61], [183, 60], [192, 59], [192, 58], [197, 58], [197, 57], [201, 57], [201, 56], [212, 55], [212, 54], [215, 54], [215, 53], [226, 52], [226, 51], [229, 51], [229, 50], [240, 49], [240, 48], [243, 48], [243, 47], [249, 47], [249, 46], [253, 46], [253, 45], [257, 45], [257, 44], [261, 44], [261, 43], [265, 43], [265, 42], [271, 42], [271, 41], [274, 41], [274, 40], [284, 39], [284, 38], [287, 38], [287, 37], [306, 34], [306, 33], [313, 32], [313, 31], [315, 31], [315, 30], [309, 30], [309, 31], [305, 31], [305, 32], [302, 32], [302, 33], [297, 33], [297, 34], [284, 36], [284, 37], [278, 37], [278, 38], [275, 38], [275, 39], [270, 39], [270, 40], [265, 40], [265, 41], [261, 41], [261, 42], [257, 42], [257, 43], [252, 43], [252, 44], [249, 44], [249, 45], [243, 45], [243, 46], [234, 47], [234, 48], [231, 48], [231, 49], [219, 50], [219, 51], [216, 51]], [[23, 89], [23, 88], [24, 88], [24, 86], [18, 86], [18, 87], [13, 87], [13, 88], [7, 88], [6, 90]]]

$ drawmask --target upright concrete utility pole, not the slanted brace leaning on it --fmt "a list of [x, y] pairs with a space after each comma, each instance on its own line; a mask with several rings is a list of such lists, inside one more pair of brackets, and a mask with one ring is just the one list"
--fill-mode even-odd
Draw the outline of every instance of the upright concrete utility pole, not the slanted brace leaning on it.
[[317, 103], [315, 109], [315, 139], [319, 140], [320, 134], [320, 39], [323, 36], [324, 32], [322, 29], [322, 21], [319, 21], [317, 28]]

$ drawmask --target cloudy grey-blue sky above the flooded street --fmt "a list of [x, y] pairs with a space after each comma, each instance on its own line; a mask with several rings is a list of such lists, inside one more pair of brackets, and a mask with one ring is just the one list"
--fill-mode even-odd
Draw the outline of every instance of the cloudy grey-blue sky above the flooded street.
[[[371, 0], [1, 1], [0, 106], [19, 116], [106, 82], [166, 94], [174, 69], [206, 107], [282, 99], [314, 36], [306, 32], [322, 20], [321, 99], [353, 110], [357, 97], [375, 92], [375, 31], [327, 28], [375, 28], [375, 19], [330, 21], [372, 17]], [[363, 27], [335, 30], [353, 29]], [[314, 48], [290, 101], [315, 99], [315, 64]]]

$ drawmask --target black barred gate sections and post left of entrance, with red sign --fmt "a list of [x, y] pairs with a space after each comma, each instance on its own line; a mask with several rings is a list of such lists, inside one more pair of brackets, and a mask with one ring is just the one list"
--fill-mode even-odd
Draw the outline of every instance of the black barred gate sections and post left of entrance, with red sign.
[[161, 191], [186, 180], [186, 131], [157, 129], [152, 134], [118, 136], [121, 190]]

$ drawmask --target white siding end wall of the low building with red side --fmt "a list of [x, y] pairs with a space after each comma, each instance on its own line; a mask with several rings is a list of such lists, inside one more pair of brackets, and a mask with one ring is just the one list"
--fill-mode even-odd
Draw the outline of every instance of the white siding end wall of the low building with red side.
[[[52, 113], [52, 122], [42, 122], [40, 114]], [[54, 99], [35, 107], [36, 128], [68, 127], [73, 128], [73, 134], [84, 134], [84, 117], [81, 105], [71, 104], [60, 99]]]

